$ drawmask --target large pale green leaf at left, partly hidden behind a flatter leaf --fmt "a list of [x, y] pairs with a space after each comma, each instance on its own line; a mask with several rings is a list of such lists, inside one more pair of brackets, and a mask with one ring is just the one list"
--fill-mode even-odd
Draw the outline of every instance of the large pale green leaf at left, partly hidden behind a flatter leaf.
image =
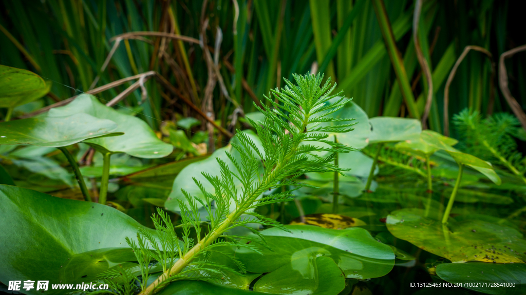
[[106, 107], [89, 94], [78, 96], [67, 106], [51, 109], [47, 115], [49, 118], [61, 118], [79, 116], [81, 113], [99, 119], [112, 120], [118, 125], [115, 132], [124, 132], [124, 135], [118, 138], [107, 137], [85, 141], [103, 153], [126, 153], [140, 158], [153, 159], [167, 156], [173, 151], [173, 146], [158, 139], [146, 122]]

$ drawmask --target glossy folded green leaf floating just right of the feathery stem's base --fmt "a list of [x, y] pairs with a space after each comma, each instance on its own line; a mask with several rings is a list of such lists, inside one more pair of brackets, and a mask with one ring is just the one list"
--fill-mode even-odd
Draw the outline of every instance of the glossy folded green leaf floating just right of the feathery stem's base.
[[313, 257], [327, 256], [343, 270], [346, 278], [367, 279], [386, 275], [391, 271], [395, 255], [392, 249], [371, 237], [358, 227], [328, 229], [310, 225], [285, 226], [291, 232], [278, 228], [261, 231], [271, 251], [255, 245], [263, 256], [241, 248], [236, 257], [250, 272], [271, 272], [298, 260], [305, 269]]

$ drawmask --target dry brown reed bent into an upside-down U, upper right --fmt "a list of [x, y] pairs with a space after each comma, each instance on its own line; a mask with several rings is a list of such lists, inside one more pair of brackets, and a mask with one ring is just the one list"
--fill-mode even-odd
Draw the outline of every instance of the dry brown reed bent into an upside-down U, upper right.
[[451, 69], [451, 72], [449, 73], [448, 80], [446, 81], [446, 86], [444, 87], [444, 135], [449, 136], [449, 87], [451, 86], [451, 82], [453, 81], [453, 78], [455, 77], [455, 74], [457, 73], [457, 69], [460, 66], [460, 63], [466, 56], [468, 55], [469, 50], [476, 50], [479, 52], [482, 52], [485, 54], [491, 62], [491, 79], [490, 79], [490, 105], [488, 106], [488, 111], [493, 107], [493, 79], [495, 77], [495, 62], [493, 61], [493, 56], [491, 55], [491, 52], [488, 50], [475, 45], [468, 45], [464, 47], [464, 51], [462, 51], [462, 54], [457, 59], [457, 62], [455, 62], [455, 65]]

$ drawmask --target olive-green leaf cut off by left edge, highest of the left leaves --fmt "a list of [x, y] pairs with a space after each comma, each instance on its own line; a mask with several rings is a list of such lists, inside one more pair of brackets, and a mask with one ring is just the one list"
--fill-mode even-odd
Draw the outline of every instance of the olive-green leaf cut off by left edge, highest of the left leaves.
[[37, 100], [51, 89], [36, 73], [0, 65], [0, 108], [14, 108]]

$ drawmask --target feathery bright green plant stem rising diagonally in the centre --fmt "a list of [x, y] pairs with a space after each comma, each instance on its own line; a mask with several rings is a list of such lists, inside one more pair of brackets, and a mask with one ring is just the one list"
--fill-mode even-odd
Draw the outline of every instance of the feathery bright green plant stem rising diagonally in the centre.
[[[225, 161], [217, 159], [221, 167], [220, 176], [202, 173], [214, 186], [215, 193], [207, 192], [203, 184], [195, 179], [204, 198], [195, 198], [183, 191], [186, 198], [186, 202], [180, 201], [183, 235], [177, 237], [171, 230], [173, 227], [167, 224], [166, 218], [162, 218], [164, 225], [161, 225], [158, 219], [154, 219], [159, 237], [140, 233], [139, 244], [130, 245], [135, 249], [144, 276], [147, 276], [150, 260], [157, 260], [163, 264], [163, 274], [149, 286], [142, 283], [140, 294], [153, 294], [174, 280], [206, 279], [202, 273], [210, 274], [215, 269], [226, 268], [207, 260], [208, 253], [217, 250], [219, 246], [256, 249], [249, 243], [238, 243], [239, 237], [227, 235], [227, 231], [235, 227], [251, 229], [247, 226], [249, 223], [285, 229], [274, 219], [255, 213], [256, 207], [291, 201], [294, 189], [287, 188], [307, 186], [298, 180], [298, 177], [306, 172], [347, 171], [333, 164], [334, 154], [353, 149], [329, 140], [328, 137], [329, 133], [352, 130], [351, 127], [355, 123], [349, 121], [353, 119], [335, 119], [330, 116], [345, 106], [348, 99], [341, 98], [330, 103], [329, 100], [336, 96], [331, 94], [336, 85], [331, 87], [328, 79], [320, 87], [323, 76], [307, 73], [305, 76], [294, 75], [294, 78], [298, 86], [285, 80], [287, 86], [284, 89], [271, 90], [271, 95], [265, 97], [274, 108], [265, 106], [264, 109], [260, 109], [265, 115], [263, 121], [256, 123], [248, 119], [261, 139], [263, 151], [258, 150], [249, 136], [238, 132], [238, 143], [232, 143], [232, 146], [240, 153], [241, 161], [227, 153], [234, 167], [229, 167]], [[338, 123], [326, 124], [330, 122]], [[319, 152], [328, 153], [327, 156], [319, 156]], [[240, 190], [236, 188], [234, 178], [240, 181]], [[262, 195], [273, 188], [285, 189], [277, 189], [279, 193], [276, 194]], [[208, 214], [206, 219], [209, 220], [209, 230], [202, 238], [201, 232], [204, 229], [201, 227], [201, 216], [196, 201], [204, 206]], [[166, 217], [161, 214], [161, 217], [163, 216]], [[196, 230], [196, 239], [190, 238], [192, 227]], [[251, 230], [258, 234], [258, 231]], [[256, 239], [254, 241], [257, 243]], [[155, 250], [146, 250], [146, 247], [150, 246]], [[234, 257], [230, 258], [235, 260]], [[237, 265], [242, 271], [242, 266], [239, 263]], [[145, 281], [143, 277], [143, 282]]]

